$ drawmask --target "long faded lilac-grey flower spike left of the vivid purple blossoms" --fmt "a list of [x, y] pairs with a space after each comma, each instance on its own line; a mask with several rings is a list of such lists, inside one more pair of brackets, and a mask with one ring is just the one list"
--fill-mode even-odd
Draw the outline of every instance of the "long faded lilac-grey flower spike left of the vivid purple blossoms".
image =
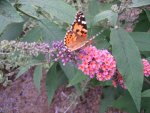
[[39, 54], [48, 54], [50, 52], [50, 47], [47, 43], [27, 43], [3, 40], [0, 42], [0, 51], [19, 51], [22, 54], [38, 56]]

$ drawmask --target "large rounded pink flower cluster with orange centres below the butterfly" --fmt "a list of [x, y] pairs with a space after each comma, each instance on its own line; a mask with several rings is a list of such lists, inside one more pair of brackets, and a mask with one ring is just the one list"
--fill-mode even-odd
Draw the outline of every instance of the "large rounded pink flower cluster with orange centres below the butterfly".
[[79, 52], [81, 64], [78, 69], [84, 74], [97, 80], [110, 80], [116, 71], [116, 61], [107, 50], [98, 50], [95, 46], [88, 46]]

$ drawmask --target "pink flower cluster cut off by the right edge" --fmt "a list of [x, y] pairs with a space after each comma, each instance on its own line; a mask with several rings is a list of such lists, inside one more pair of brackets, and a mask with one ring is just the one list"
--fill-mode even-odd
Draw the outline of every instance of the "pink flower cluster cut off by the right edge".
[[144, 76], [150, 76], [150, 63], [146, 59], [142, 59], [142, 63], [144, 66]]

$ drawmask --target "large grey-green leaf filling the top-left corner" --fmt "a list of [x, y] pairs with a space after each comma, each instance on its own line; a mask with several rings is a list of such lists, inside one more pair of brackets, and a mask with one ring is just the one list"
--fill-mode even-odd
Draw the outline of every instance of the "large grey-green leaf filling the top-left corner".
[[7, 0], [0, 0], [0, 34], [7, 25], [22, 22], [23, 19]]

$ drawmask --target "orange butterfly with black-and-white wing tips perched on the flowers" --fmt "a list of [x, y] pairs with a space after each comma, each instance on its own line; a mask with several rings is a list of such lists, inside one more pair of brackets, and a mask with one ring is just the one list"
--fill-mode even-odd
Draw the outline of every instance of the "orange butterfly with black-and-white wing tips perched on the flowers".
[[[89, 45], [95, 38], [88, 39], [88, 30], [83, 12], [78, 11], [71, 28], [66, 32], [64, 45], [72, 52]], [[96, 35], [97, 36], [97, 35]]]

